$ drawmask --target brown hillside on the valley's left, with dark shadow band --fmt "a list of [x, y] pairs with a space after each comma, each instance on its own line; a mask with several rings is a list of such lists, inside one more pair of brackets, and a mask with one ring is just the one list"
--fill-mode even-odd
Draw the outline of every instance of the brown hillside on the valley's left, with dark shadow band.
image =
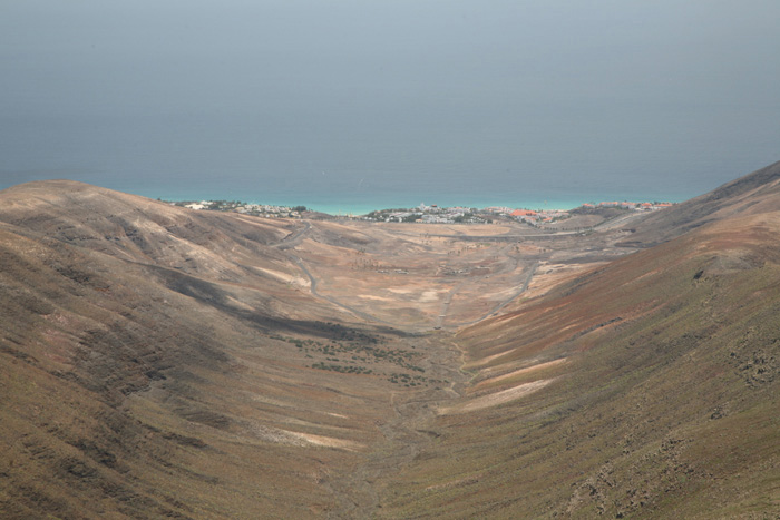
[[[370, 503], [340, 475], [390, 428], [386, 374], [419, 355], [312, 297], [282, 247], [302, 226], [70, 181], [0, 193], [0, 516]], [[361, 365], [324, 370], [342, 351]]]

